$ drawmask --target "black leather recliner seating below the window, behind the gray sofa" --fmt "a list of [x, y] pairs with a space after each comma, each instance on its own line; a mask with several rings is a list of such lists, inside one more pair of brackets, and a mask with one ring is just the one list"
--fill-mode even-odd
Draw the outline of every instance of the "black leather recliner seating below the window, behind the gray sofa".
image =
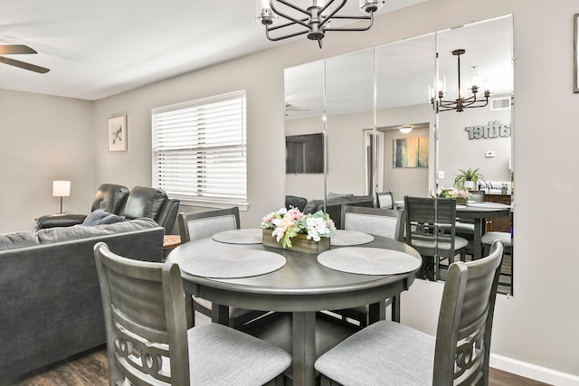
[[[175, 225], [179, 200], [170, 199], [162, 189], [135, 186], [128, 188], [118, 184], [101, 184], [90, 212], [97, 209], [125, 216], [128, 220], [147, 217], [165, 228], [169, 234]], [[36, 219], [36, 229], [70, 227], [81, 224], [86, 214], [51, 214]]]

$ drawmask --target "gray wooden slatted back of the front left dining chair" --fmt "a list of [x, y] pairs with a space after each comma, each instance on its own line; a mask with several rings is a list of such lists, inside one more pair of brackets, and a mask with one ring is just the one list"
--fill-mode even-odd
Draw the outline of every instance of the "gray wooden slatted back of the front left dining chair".
[[185, 297], [176, 263], [120, 257], [104, 242], [95, 245], [109, 381], [189, 384]]

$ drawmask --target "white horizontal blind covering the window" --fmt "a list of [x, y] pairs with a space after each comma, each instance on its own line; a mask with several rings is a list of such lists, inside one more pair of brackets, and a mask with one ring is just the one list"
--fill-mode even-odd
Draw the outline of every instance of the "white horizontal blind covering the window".
[[183, 203], [247, 208], [245, 90], [154, 108], [153, 186]]

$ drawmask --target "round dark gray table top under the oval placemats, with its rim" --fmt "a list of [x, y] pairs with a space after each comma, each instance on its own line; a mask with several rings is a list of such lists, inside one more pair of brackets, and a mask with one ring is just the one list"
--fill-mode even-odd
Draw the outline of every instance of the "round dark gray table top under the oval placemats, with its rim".
[[[357, 247], [393, 249], [422, 261], [420, 254], [403, 242], [375, 236]], [[348, 247], [332, 247], [348, 248]], [[182, 271], [187, 292], [215, 303], [274, 311], [317, 311], [362, 306], [400, 294], [413, 283], [415, 270], [397, 275], [361, 275], [324, 267], [318, 255], [262, 244], [228, 244], [211, 238], [185, 242], [169, 254], [176, 263], [204, 250], [257, 249], [278, 253], [286, 264], [271, 273], [249, 278], [203, 278]]]

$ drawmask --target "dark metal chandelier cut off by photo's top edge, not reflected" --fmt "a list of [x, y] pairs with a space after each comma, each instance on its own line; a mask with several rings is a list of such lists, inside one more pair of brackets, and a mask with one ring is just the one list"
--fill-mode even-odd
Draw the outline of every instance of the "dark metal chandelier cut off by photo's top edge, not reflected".
[[[286, 0], [256, 0], [257, 20], [265, 26], [265, 35], [272, 42], [308, 33], [308, 39], [318, 41], [327, 31], [367, 31], [374, 24], [374, 13], [382, 8], [385, 0], [359, 0], [360, 11], [365, 15], [348, 16], [338, 14], [347, 0], [308, 0], [308, 7], [302, 8]], [[293, 0], [293, 3], [297, 3]], [[280, 23], [277, 19], [282, 18]], [[367, 20], [363, 27], [330, 27], [330, 21]]]

